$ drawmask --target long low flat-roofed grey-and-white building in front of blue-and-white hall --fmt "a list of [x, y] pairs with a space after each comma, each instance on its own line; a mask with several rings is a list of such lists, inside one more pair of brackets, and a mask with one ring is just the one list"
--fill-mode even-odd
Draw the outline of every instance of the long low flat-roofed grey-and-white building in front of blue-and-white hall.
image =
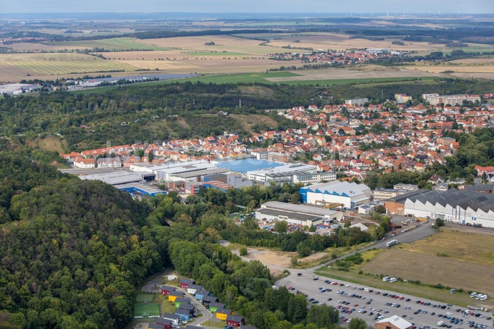
[[255, 211], [258, 220], [285, 220], [291, 224], [311, 226], [329, 224], [343, 219], [341, 211], [318, 208], [315, 206], [293, 205], [283, 202], [270, 201], [261, 205]]

